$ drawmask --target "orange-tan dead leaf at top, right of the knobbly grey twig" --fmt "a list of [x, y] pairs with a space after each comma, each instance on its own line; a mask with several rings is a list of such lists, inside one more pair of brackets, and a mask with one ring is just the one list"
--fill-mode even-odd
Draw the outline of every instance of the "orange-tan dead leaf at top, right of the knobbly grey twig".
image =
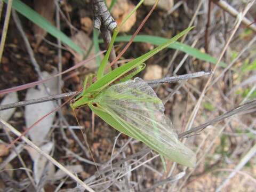
[[[109, 6], [111, 0], [106, 1], [107, 5]], [[129, 0], [119, 0], [116, 1], [113, 9], [111, 10], [111, 14], [113, 15], [114, 19], [116, 20], [117, 24], [120, 24], [124, 18], [134, 9], [135, 5], [133, 5]], [[122, 28], [120, 29], [121, 32], [129, 31], [134, 23], [136, 22], [136, 12], [134, 12], [131, 17], [124, 23]]]

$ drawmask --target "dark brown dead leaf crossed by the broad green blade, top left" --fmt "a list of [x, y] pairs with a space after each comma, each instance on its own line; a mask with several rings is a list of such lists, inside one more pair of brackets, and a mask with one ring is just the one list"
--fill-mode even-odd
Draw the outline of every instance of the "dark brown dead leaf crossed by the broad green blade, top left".
[[[55, 5], [53, 0], [34, 1], [34, 9], [49, 22], [54, 22], [53, 17], [55, 13]], [[35, 47], [38, 47], [43, 38], [46, 36], [47, 32], [36, 24], [33, 26], [33, 31], [36, 37]]]

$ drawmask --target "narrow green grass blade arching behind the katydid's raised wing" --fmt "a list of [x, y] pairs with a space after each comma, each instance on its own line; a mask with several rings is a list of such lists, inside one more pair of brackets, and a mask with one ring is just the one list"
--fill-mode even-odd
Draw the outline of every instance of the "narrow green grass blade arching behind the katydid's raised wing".
[[[131, 35], [118, 36], [118, 37], [116, 37], [115, 42], [128, 42], [131, 37], [132, 37]], [[137, 35], [134, 38], [133, 42], [143, 42], [143, 43], [151, 43], [153, 45], [161, 45], [166, 41], [167, 41], [167, 38], [163, 38], [163, 37], [157, 37], [157, 36], [151, 36], [151, 35]], [[102, 39], [100, 39], [99, 42], [102, 43]], [[172, 43], [171, 45], [168, 46], [168, 48], [185, 52], [197, 59], [201, 59], [201, 60], [204, 60], [207, 62], [211, 62], [211, 63], [217, 62], [217, 59], [211, 57], [211, 55], [203, 53], [189, 45], [186, 45], [186, 44], [183, 44], [180, 42]], [[220, 66], [227, 67], [227, 64], [224, 62], [220, 62]]]

